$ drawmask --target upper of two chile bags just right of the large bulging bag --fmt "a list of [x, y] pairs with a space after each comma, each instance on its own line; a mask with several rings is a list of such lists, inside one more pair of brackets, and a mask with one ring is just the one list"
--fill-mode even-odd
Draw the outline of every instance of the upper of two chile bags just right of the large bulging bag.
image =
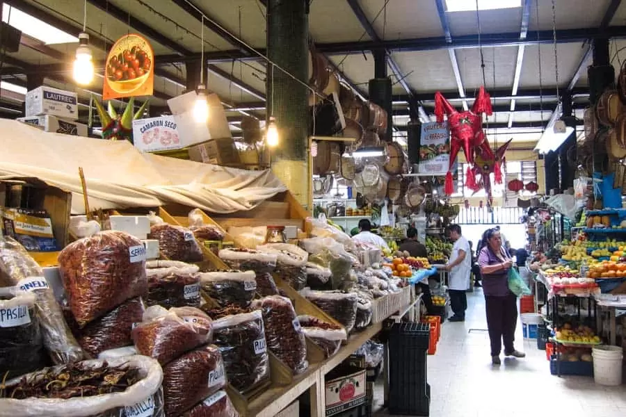
[[201, 262], [204, 259], [193, 232], [186, 227], [154, 224], [148, 238], [159, 240], [159, 253], [170, 261]]

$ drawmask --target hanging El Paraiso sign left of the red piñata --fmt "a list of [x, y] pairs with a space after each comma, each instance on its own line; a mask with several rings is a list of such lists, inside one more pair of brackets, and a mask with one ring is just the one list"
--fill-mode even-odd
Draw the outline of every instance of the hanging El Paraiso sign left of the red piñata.
[[448, 122], [422, 124], [419, 139], [420, 174], [445, 175], [450, 163], [450, 128]]

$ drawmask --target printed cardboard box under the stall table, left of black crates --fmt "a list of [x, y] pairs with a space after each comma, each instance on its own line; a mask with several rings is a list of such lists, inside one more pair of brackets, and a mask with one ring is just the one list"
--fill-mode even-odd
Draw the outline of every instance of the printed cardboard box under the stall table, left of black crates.
[[358, 407], [367, 401], [365, 395], [365, 370], [350, 367], [342, 368], [339, 372], [346, 375], [330, 379], [332, 375], [336, 375], [334, 370], [326, 375], [327, 417]]

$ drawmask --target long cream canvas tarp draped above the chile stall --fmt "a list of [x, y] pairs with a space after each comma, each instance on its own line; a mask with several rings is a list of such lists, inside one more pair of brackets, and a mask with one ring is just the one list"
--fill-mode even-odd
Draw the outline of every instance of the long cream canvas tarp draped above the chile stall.
[[83, 213], [79, 167], [90, 208], [179, 203], [211, 213], [254, 208], [286, 188], [271, 171], [247, 171], [141, 154], [127, 141], [49, 133], [0, 119], [0, 179], [35, 177], [74, 193]]

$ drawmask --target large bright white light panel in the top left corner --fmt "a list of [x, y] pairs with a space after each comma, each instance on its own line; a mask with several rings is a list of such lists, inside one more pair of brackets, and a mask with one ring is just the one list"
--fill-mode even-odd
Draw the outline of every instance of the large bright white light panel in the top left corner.
[[77, 37], [24, 13], [22, 10], [9, 6], [7, 3], [2, 4], [2, 22], [10, 24], [31, 38], [48, 45], [78, 42]]

